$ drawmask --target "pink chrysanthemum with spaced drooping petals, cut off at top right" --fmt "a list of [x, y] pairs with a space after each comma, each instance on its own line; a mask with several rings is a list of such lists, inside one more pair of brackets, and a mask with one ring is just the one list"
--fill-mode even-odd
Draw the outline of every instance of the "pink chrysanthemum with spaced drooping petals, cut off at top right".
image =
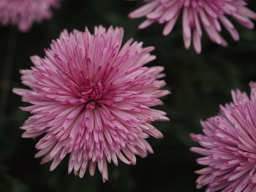
[[246, 8], [244, 0], [144, 0], [143, 7], [129, 14], [129, 18], [146, 16], [139, 28], [146, 28], [154, 22], [165, 23], [163, 34], [173, 30], [178, 16], [182, 15], [184, 45], [188, 49], [193, 42], [195, 51], [201, 52], [202, 26], [208, 37], [215, 43], [226, 46], [227, 42], [220, 35], [222, 26], [239, 40], [238, 32], [227, 16], [241, 23], [246, 28], [254, 28], [250, 19], [256, 19], [256, 13]]

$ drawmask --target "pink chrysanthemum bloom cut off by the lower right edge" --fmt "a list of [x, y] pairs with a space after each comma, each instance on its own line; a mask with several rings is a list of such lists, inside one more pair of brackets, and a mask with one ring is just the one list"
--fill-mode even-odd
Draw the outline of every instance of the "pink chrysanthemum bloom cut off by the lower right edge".
[[197, 163], [197, 188], [211, 191], [256, 191], [256, 83], [251, 95], [232, 91], [233, 103], [220, 106], [220, 114], [202, 121], [204, 135], [191, 134], [201, 147], [191, 150], [206, 157]]

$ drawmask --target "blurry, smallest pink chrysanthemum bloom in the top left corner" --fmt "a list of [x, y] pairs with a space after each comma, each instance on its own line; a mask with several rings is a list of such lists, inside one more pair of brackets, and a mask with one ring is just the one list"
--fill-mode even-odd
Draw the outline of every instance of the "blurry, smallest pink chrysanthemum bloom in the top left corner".
[[61, 0], [1, 0], [0, 23], [18, 26], [22, 32], [29, 31], [34, 22], [40, 23], [52, 17], [51, 8], [59, 7]]

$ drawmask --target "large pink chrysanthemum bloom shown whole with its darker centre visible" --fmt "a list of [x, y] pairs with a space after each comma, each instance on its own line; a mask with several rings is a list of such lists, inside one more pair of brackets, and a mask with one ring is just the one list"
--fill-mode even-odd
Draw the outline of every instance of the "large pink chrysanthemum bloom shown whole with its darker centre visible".
[[150, 107], [170, 93], [159, 90], [163, 67], [144, 66], [155, 59], [154, 47], [132, 39], [121, 47], [123, 34], [102, 26], [94, 34], [64, 30], [45, 58], [33, 56], [34, 67], [21, 70], [31, 90], [13, 91], [33, 104], [22, 109], [34, 114], [21, 127], [23, 137], [43, 136], [35, 156], [44, 155], [42, 164], [53, 160], [50, 170], [69, 154], [69, 173], [83, 177], [88, 168], [93, 175], [98, 166], [105, 181], [108, 163], [135, 164], [135, 155], [153, 153], [146, 138], [162, 137], [151, 122], [168, 118]]

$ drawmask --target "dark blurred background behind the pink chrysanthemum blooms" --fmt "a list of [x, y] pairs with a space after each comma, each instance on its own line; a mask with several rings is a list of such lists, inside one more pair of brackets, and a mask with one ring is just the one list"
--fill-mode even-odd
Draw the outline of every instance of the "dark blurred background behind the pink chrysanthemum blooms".
[[[124, 0], [64, 0], [51, 20], [34, 24], [29, 33], [0, 27], [0, 70], [4, 85], [1, 102], [6, 104], [6, 110], [1, 107], [0, 116], [0, 191], [197, 191], [194, 171], [202, 166], [195, 163], [199, 155], [189, 152], [189, 147], [197, 145], [189, 133], [200, 133], [199, 120], [216, 115], [219, 104], [231, 101], [231, 89], [249, 91], [248, 83], [256, 80], [256, 31], [234, 22], [241, 41], [234, 42], [224, 30], [222, 34], [230, 43], [226, 48], [214, 45], [204, 34], [203, 53], [197, 55], [192, 49], [184, 49], [181, 20], [167, 37], [162, 36], [163, 26], [158, 24], [138, 31], [143, 19], [132, 20], [127, 15], [139, 4]], [[256, 2], [249, 1], [249, 7], [256, 10]], [[170, 122], [154, 123], [165, 137], [148, 139], [154, 155], [138, 157], [136, 166], [109, 165], [107, 183], [102, 183], [99, 172], [94, 177], [87, 173], [83, 179], [68, 175], [67, 158], [53, 172], [49, 171], [50, 164], [39, 165], [40, 159], [34, 158], [36, 141], [20, 137], [23, 131], [19, 126], [29, 114], [18, 107], [26, 104], [11, 92], [13, 87], [23, 87], [18, 70], [29, 69], [31, 55], [43, 57], [43, 49], [64, 28], [72, 31], [88, 26], [93, 31], [99, 24], [122, 26], [125, 41], [134, 37], [145, 46], [156, 47], [157, 60], [149, 65], [165, 66], [167, 88], [172, 91], [163, 98], [165, 106], [159, 107], [167, 112]], [[4, 68], [7, 72], [3, 73]]]

